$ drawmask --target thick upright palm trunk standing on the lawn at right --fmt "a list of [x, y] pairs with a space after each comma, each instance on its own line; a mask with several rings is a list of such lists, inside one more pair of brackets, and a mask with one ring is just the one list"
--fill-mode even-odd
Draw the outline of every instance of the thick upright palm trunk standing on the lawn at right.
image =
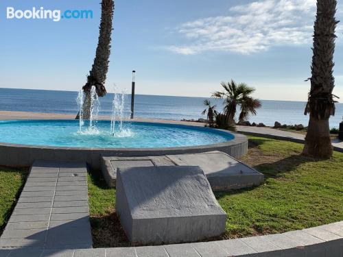
[[336, 0], [317, 0], [317, 15], [314, 23], [314, 47], [311, 65], [311, 90], [305, 108], [309, 114], [309, 126], [303, 154], [315, 158], [330, 158], [333, 149], [330, 140], [329, 117], [335, 115], [332, 94], [333, 52], [335, 51]]

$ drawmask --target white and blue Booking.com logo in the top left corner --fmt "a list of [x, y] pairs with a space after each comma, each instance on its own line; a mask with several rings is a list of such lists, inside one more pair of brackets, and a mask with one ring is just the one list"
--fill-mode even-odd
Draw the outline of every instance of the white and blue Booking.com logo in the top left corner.
[[32, 10], [15, 10], [14, 7], [7, 8], [7, 19], [50, 19], [60, 21], [61, 19], [93, 19], [92, 10], [45, 10], [43, 7], [32, 8]]

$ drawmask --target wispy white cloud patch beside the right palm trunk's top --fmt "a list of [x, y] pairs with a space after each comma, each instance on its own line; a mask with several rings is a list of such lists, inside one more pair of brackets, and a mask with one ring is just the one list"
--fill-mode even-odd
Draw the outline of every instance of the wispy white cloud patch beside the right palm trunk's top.
[[167, 49], [185, 55], [211, 50], [248, 54], [272, 46], [310, 45], [316, 0], [255, 1], [229, 13], [178, 26], [176, 32], [187, 42]]

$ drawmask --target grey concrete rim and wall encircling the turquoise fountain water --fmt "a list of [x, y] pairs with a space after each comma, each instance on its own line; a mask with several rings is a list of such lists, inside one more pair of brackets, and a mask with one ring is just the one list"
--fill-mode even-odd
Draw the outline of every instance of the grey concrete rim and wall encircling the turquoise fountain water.
[[[11, 120], [3, 122], [23, 122], [23, 121], [66, 121], [60, 120]], [[67, 120], [73, 121], [73, 120]], [[103, 122], [103, 121], [99, 121]], [[108, 122], [108, 121], [106, 121]], [[191, 130], [211, 131], [217, 134], [234, 136], [232, 140], [223, 143], [209, 145], [196, 145], [184, 147], [159, 147], [159, 148], [102, 148], [102, 147], [55, 147], [45, 145], [22, 145], [15, 143], [0, 143], [0, 165], [13, 167], [29, 167], [34, 160], [78, 160], [86, 161], [91, 167], [99, 169], [101, 156], [159, 156], [165, 154], [189, 154], [205, 151], [223, 151], [234, 158], [240, 158], [247, 154], [248, 138], [243, 134], [237, 134], [228, 130], [218, 130], [210, 127], [200, 127], [200, 125], [184, 125], [179, 123], [159, 123], [155, 121], [128, 121], [133, 123], [143, 123], [147, 125], [161, 125], [169, 127], [184, 127]], [[0, 139], [1, 140], [1, 139]]]

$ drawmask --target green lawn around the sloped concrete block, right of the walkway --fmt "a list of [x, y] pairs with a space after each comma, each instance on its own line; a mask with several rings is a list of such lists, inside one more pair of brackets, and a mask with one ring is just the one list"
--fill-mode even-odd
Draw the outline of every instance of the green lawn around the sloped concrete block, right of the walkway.
[[[265, 175], [255, 188], [215, 193], [226, 211], [226, 233], [236, 238], [309, 228], [343, 220], [343, 154], [330, 160], [301, 155], [298, 143], [249, 136], [241, 160]], [[88, 176], [89, 205], [95, 247], [128, 246], [115, 215], [115, 189], [99, 172]]]

